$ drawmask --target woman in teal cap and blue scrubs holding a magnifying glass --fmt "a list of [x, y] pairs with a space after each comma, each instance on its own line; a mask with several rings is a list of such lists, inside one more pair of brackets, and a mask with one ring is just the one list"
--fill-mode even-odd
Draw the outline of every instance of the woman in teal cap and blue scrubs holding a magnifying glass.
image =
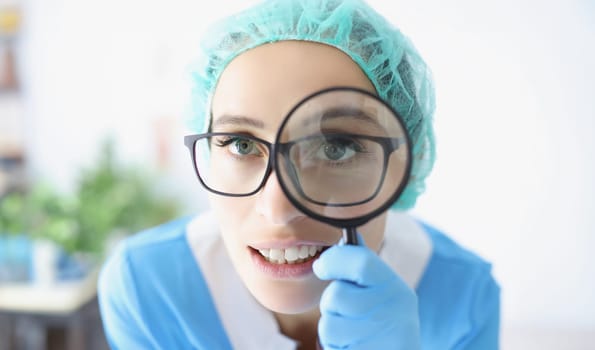
[[120, 245], [99, 285], [111, 346], [497, 349], [490, 265], [404, 213], [434, 159], [432, 83], [409, 41], [355, 0], [265, 1], [205, 38], [191, 126], [228, 133], [209, 147], [235, 162], [268, 158], [264, 142], [298, 101], [350, 87], [404, 119], [411, 177], [393, 210], [358, 227], [365, 244], [340, 245], [341, 231], [296, 209], [275, 172], [236, 172], [211, 158], [215, 178], [253, 185], [221, 190], [203, 175], [211, 212]]

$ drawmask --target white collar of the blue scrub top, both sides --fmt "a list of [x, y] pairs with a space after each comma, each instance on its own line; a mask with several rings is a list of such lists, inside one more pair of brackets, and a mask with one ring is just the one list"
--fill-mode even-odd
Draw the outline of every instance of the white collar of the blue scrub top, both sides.
[[[430, 238], [409, 215], [398, 212], [389, 212], [385, 231], [380, 256], [409, 287], [415, 288], [432, 254]], [[298, 343], [279, 331], [273, 314], [242, 283], [213, 213], [194, 218], [186, 232], [233, 348], [296, 349]]]

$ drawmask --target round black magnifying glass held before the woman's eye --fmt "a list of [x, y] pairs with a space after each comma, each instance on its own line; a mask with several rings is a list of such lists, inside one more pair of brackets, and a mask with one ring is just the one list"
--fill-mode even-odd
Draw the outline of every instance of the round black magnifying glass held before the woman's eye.
[[356, 228], [388, 209], [411, 172], [411, 142], [399, 115], [374, 94], [333, 87], [301, 100], [273, 144], [274, 170], [289, 201], [305, 215]]

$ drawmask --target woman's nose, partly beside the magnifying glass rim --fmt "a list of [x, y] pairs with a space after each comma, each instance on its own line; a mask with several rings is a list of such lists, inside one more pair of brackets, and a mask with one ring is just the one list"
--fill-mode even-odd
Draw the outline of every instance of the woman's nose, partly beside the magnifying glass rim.
[[288, 224], [304, 217], [302, 212], [294, 207], [283, 193], [274, 171], [256, 196], [256, 211], [275, 225]]

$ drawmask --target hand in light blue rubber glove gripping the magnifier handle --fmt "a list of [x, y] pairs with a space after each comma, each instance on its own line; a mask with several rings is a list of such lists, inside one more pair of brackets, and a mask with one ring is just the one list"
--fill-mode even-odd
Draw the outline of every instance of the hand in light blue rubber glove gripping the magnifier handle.
[[372, 250], [336, 245], [313, 269], [334, 280], [320, 300], [324, 349], [420, 349], [417, 296]]

